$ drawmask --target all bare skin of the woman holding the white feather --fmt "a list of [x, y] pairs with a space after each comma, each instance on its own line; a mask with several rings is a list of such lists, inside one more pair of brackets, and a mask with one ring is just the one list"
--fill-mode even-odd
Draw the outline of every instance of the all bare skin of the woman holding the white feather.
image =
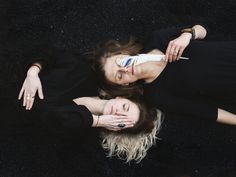
[[[196, 39], [204, 39], [207, 31], [201, 25], [193, 26], [196, 33]], [[105, 76], [106, 78], [119, 85], [128, 85], [137, 80], [144, 80], [145, 83], [154, 81], [160, 73], [164, 70], [168, 62], [178, 61], [182, 55], [184, 49], [190, 43], [192, 34], [182, 33], [178, 38], [169, 42], [168, 47], [165, 51], [165, 58], [162, 61], [146, 62], [135, 66], [121, 67], [119, 63], [128, 55], [115, 55], [109, 57], [105, 64]], [[174, 51], [177, 51], [174, 54]], [[155, 49], [149, 52], [149, 54], [164, 54], [160, 50]], [[217, 122], [236, 125], [236, 115], [226, 110], [218, 108]]]

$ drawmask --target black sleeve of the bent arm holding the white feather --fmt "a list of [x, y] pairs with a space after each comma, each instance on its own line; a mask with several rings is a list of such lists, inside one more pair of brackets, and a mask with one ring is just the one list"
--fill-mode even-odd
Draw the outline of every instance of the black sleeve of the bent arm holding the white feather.
[[[208, 27], [206, 25], [196, 23], [201, 26], [203, 26], [206, 30], [207, 33], [209, 32]], [[169, 42], [181, 34], [181, 30], [184, 28], [191, 28], [194, 25], [186, 25], [186, 26], [174, 26], [174, 27], [169, 27], [166, 29], [159, 29], [154, 31], [145, 41], [144, 41], [144, 47], [145, 47], [145, 52], [149, 52], [150, 50], [153, 49], [159, 49], [163, 53], [165, 53], [166, 48], [169, 44]]]

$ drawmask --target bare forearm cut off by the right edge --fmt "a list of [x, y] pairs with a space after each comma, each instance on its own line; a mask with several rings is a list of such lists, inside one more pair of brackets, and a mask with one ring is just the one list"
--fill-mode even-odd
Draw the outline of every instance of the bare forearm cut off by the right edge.
[[218, 108], [218, 117], [216, 121], [219, 123], [236, 125], [236, 115]]

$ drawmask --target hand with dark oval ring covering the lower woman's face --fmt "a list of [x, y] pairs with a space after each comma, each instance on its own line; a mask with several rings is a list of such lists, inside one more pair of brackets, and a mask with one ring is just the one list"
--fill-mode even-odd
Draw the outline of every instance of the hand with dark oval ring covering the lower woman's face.
[[119, 131], [134, 126], [134, 122], [129, 120], [126, 115], [101, 115], [98, 119], [98, 127], [104, 127], [108, 130]]

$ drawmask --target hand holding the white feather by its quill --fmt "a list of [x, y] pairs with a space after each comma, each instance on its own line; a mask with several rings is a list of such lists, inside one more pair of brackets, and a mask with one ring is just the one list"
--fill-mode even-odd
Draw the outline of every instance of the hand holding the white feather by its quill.
[[165, 61], [179, 60], [183, 54], [184, 49], [188, 46], [191, 40], [191, 33], [182, 33], [178, 38], [169, 42], [165, 53]]

